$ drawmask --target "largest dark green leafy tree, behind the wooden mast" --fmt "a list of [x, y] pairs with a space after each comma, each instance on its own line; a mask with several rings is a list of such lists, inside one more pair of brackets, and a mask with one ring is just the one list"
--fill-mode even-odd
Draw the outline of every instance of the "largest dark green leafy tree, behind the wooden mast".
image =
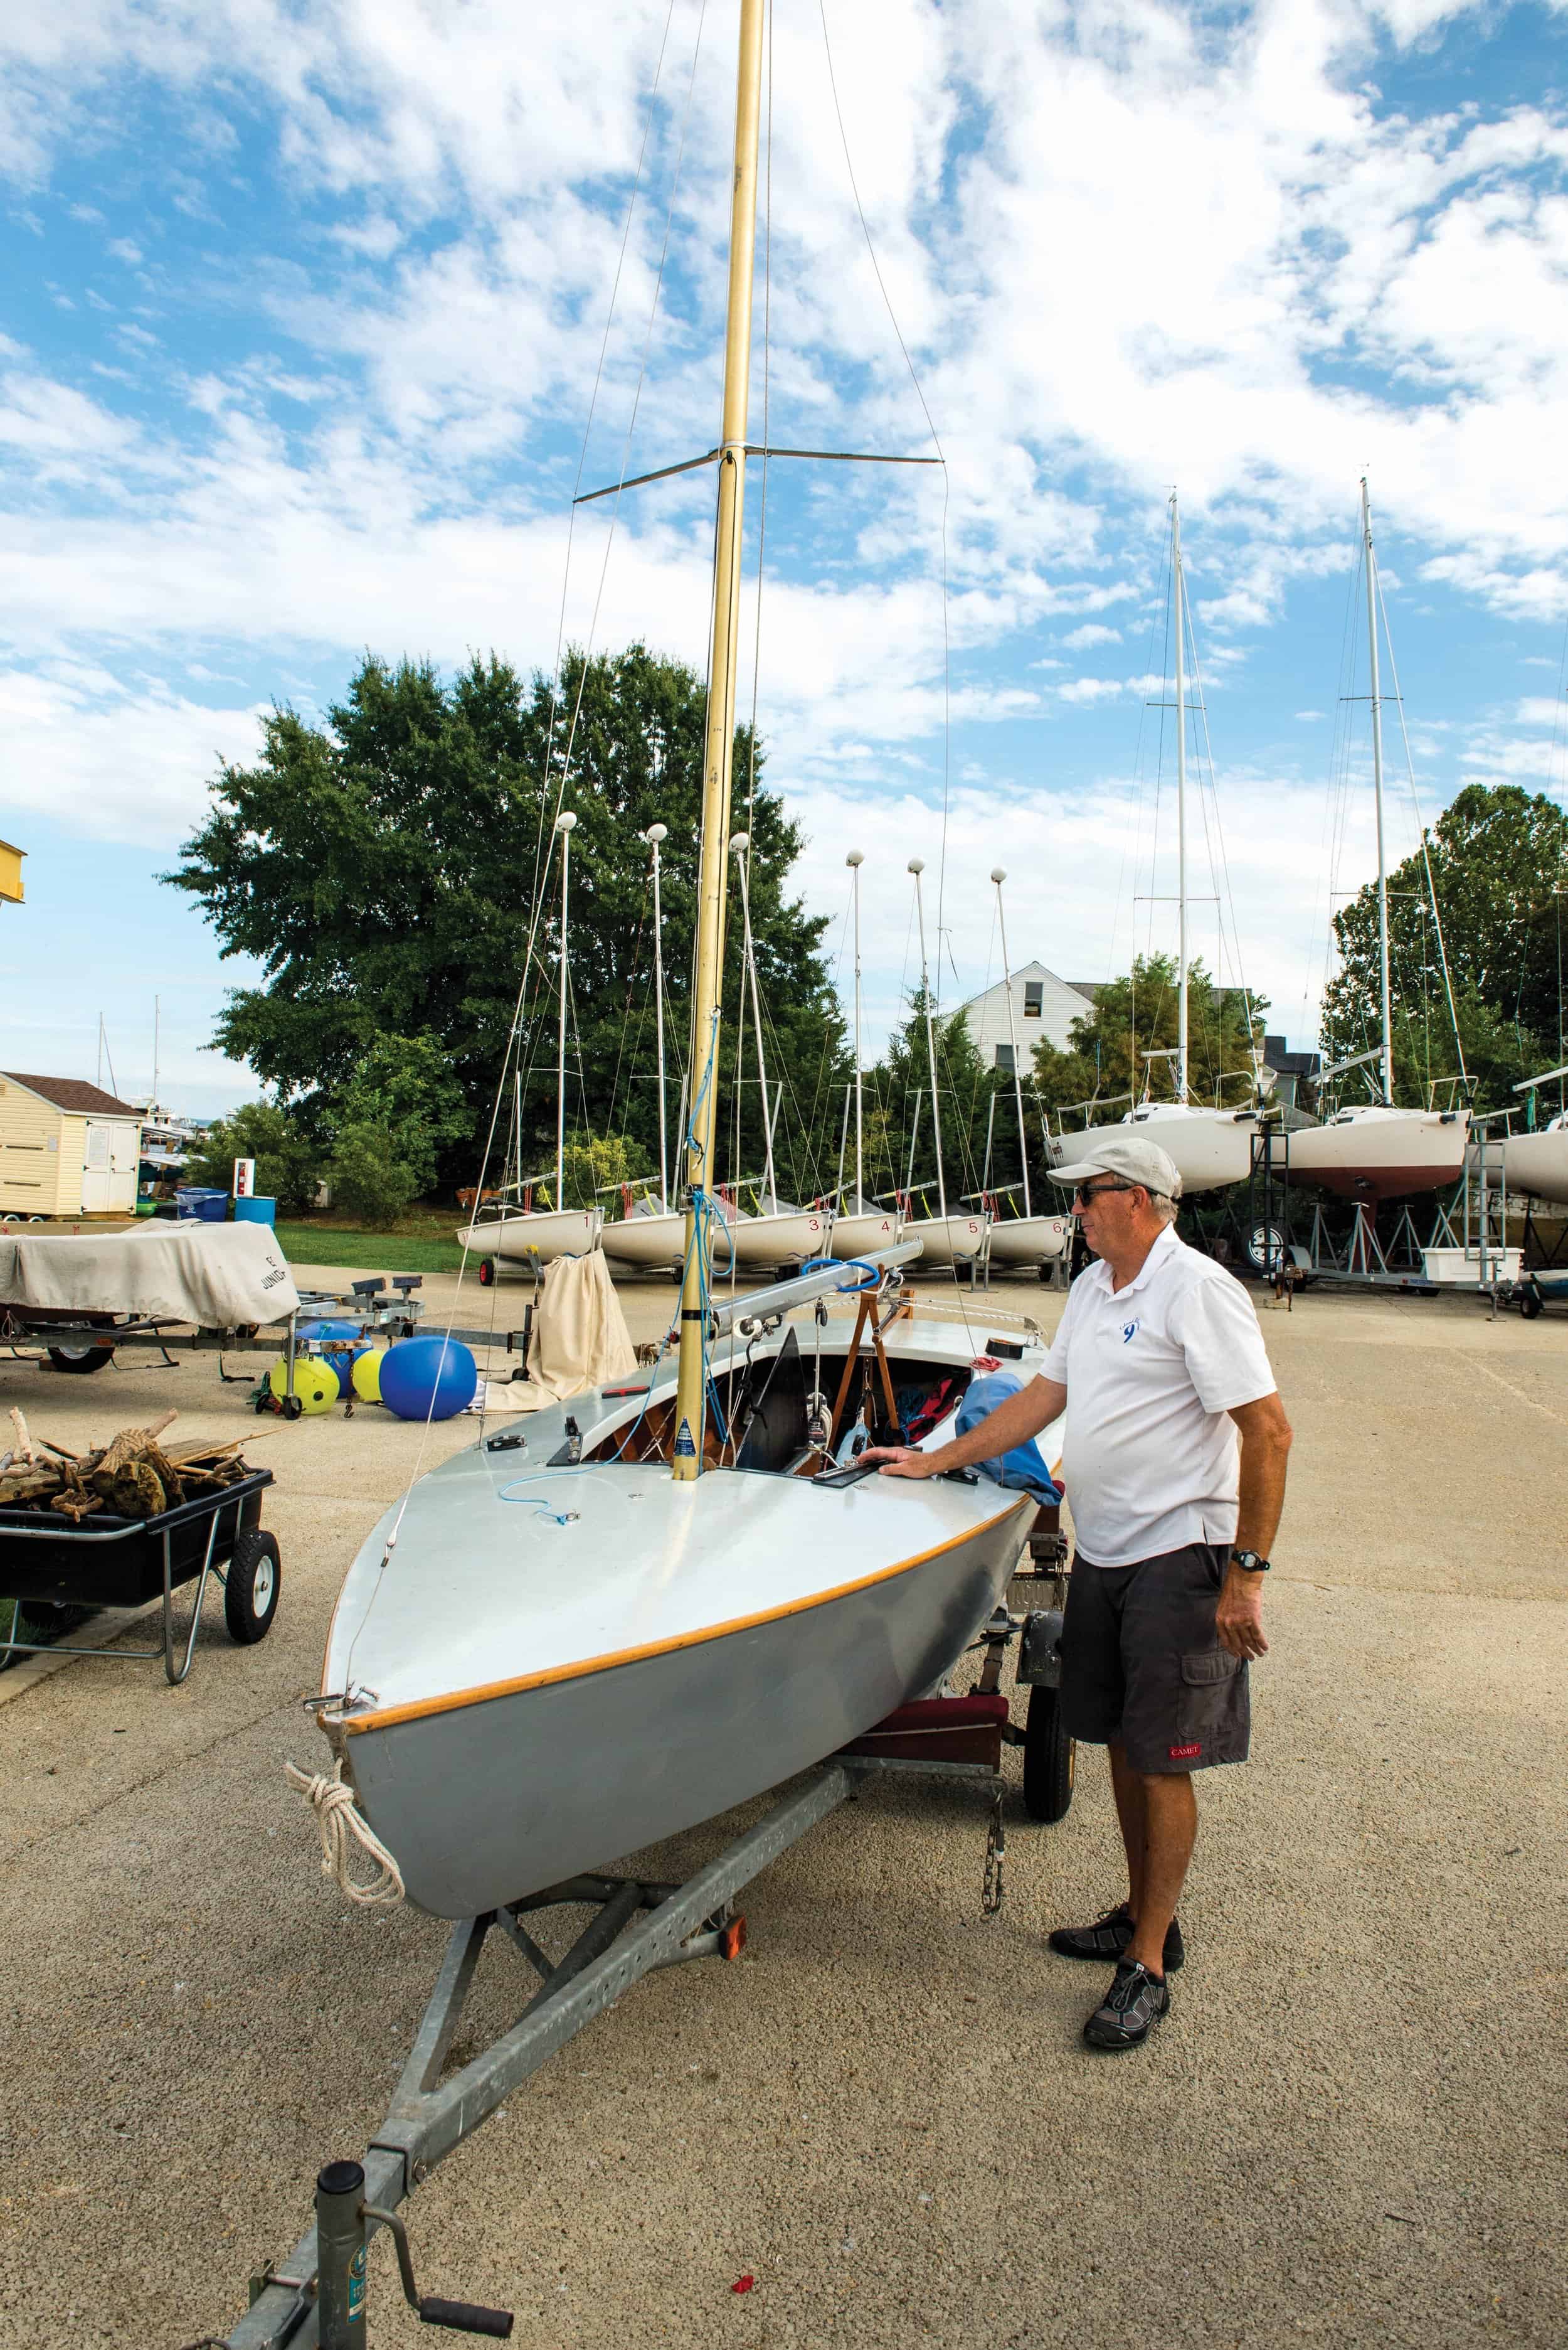
[[[702, 785], [702, 682], [643, 644], [594, 660], [570, 653], [559, 696], [491, 656], [451, 682], [432, 663], [366, 658], [324, 724], [277, 710], [254, 766], [225, 766], [204, 825], [169, 881], [214, 924], [225, 954], [249, 954], [263, 985], [228, 996], [216, 1043], [329, 1121], [380, 1039], [434, 1041], [467, 1104], [467, 1135], [441, 1116], [441, 1177], [465, 1180], [505, 1065], [526, 942], [521, 1135], [535, 1173], [554, 1159], [554, 1001], [559, 952], [556, 801], [577, 815], [570, 858], [573, 1036], [568, 1126], [657, 1149], [653, 1074], [653, 907], [648, 825], [662, 848], [671, 1069], [685, 1058]], [[800, 832], [761, 783], [749, 728], [735, 736], [735, 820], [751, 825], [751, 919], [772, 1074], [819, 1090], [843, 1062], [843, 1027], [819, 954], [824, 924], [791, 891]], [[739, 1008], [739, 924], [725, 1020]], [[730, 1027], [732, 1034], [732, 1027]], [[721, 1119], [732, 1128], [732, 1053]], [[669, 1130], [674, 1144], [676, 1083]], [[742, 1088], [758, 1152], [758, 1088]], [[786, 1119], [782, 1173], [815, 1189], [810, 1152]], [[826, 1173], [826, 1170], [824, 1170]]]

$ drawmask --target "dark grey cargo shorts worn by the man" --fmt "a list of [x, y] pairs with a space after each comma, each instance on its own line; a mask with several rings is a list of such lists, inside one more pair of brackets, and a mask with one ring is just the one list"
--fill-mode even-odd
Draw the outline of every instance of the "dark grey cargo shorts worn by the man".
[[1122, 1746], [1134, 1770], [1244, 1762], [1246, 1666], [1214, 1636], [1228, 1542], [1096, 1567], [1082, 1553], [1061, 1631], [1061, 1723], [1089, 1746]]

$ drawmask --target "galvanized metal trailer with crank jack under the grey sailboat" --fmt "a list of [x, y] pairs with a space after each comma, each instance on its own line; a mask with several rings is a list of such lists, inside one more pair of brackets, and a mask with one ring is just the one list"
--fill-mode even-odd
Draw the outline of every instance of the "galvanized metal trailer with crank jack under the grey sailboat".
[[[1023, 1633], [1028, 1652], [1028, 1633], [1035, 1626], [1042, 1631], [1049, 1626], [1054, 1633], [1059, 1619], [1009, 1619], [1005, 1610], [998, 1610], [976, 1643], [988, 1650], [984, 1680], [995, 1678], [991, 1668], [1000, 1664], [1000, 1650], [1016, 1633]], [[1049, 1666], [1042, 1666], [1040, 1678], [1047, 1673]], [[937, 1753], [948, 1753], [953, 1760], [913, 1760], [887, 1753], [833, 1755], [796, 1781], [791, 1793], [685, 1885], [580, 1875], [528, 1894], [523, 1901], [509, 1901], [484, 1918], [462, 1918], [453, 1927], [392, 2106], [371, 2138], [364, 2164], [329, 2162], [317, 2174], [315, 2225], [305, 2230], [279, 2268], [268, 2265], [251, 2277], [249, 2312], [223, 2343], [211, 2338], [214, 2350], [366, 2350], [366, 2244], [378, 2228], [390, 2228], [394, 2235], [404, 2298], [425, 2324], [505, 2341], [512, 2331], [507, 2310], [418, 2294], [397, 2207], [430, 2178], [437, 2162], [451, 2155], [584, 2023], [613, 2007], [638, 1976], [690, 1958], [739, 1958], [746, 1941], [746, 1920], [735, 1911], [739, 1889], [807, 1835], [819, 1819], [854, 1798], [866, 1779], [969, 1779], [993, 1791], [993, 1826], [986, 1847], [986, 1904], [993, 1908], [1000, 1899], [998, 1826], [1007, 1786], [995, 1765], [1007, 1732], [991, 1718], [1002, 1708], [1002, 1699], [976, 1694], [974, 1699], [948, 1699], [948, 1704], [953, 1730], [937, 1737]], [[934, 1708], [930, 1704], [904, 1708], [904, 1713], [927, 1711]], [[991, 1730], [988, 1746], [979, 1732], [981, 1716]], [[890, 1725], [899, 1723], [901, 1716], [890, 1716]], [[890, 1725], [878, 1725], [878, 1730]], [[941, 1744], [944, 1737], [951, 1741], [948, 1746]], [[915, 1751], [920, 1748], [915, 1746]], [[960, 1755], [984, 1755], [984, 1760], [960, 1760]], [[587, 1904], [596, 1915], [566, 1955], [552, 1960], [523, 1920], [538, 1911], [570, 1904]], [[491, 1932], [512, 1941], [540, 1976], [540, 1986], [500, 2040], [441, 2080]]]

